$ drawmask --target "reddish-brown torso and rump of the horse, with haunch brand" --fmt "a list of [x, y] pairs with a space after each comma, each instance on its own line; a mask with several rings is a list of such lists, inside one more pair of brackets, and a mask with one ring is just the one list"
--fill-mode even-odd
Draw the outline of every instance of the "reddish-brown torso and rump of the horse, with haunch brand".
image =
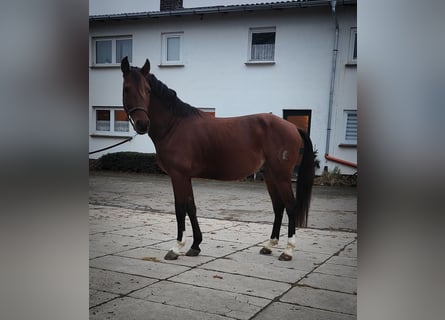
[[292, 123], [268, 113], [196, 117], [179, 129], [177, 143], [166, 152], [168, 162], [174, 159], [173, 169], [191, 177], [237, 180], [257, 172], [264, 163], [284, 165], [284, 171], [290, 172], [301, 143]]

